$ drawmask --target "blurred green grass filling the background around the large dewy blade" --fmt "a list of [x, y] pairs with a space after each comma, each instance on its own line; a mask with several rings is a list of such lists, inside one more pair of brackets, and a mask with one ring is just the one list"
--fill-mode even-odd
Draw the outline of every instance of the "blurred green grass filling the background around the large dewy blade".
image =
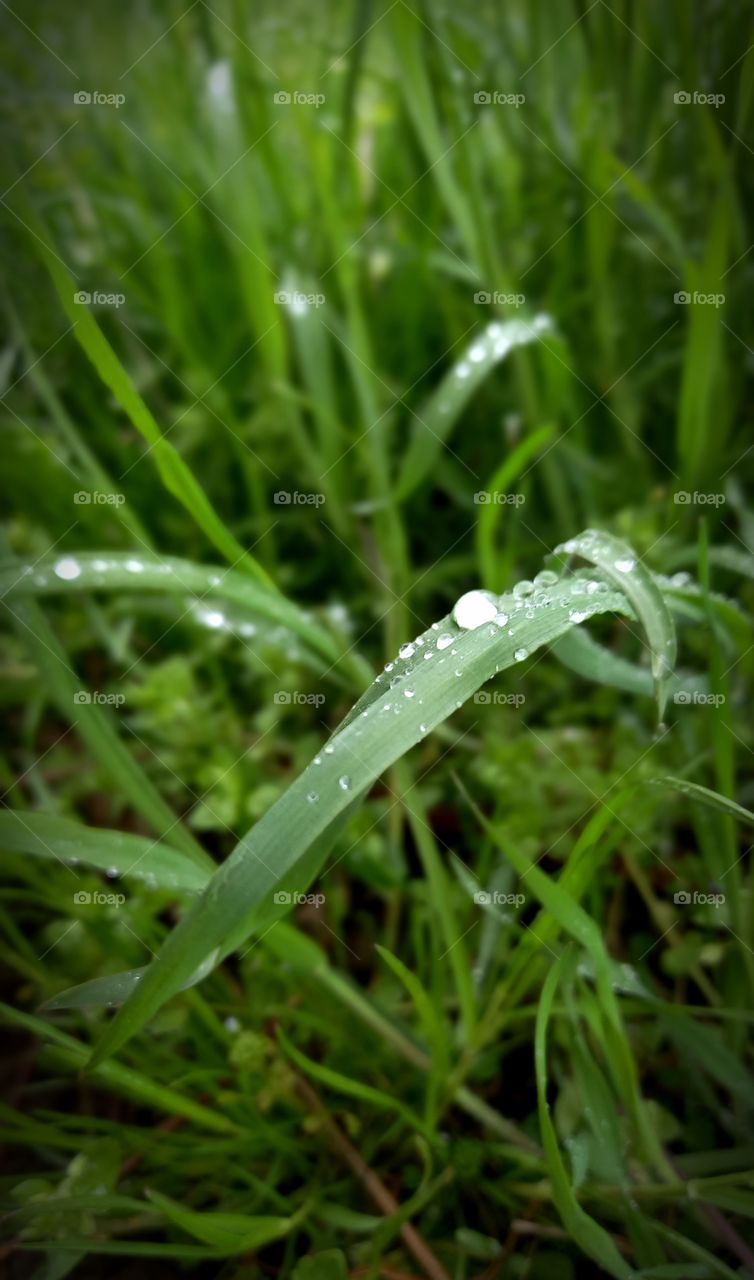
[[[10, 1274], [84, 1275], [99, 1253], [125, 1276], [142, 1251], [155, 1274], [183, 1260], [207, 1275], [288, 1275], [307, 1253], [341, 1249], [321, 1262], [325, 1280], [341, 1266], [406, 1275], [419, 1267], [399, 1234], [411, 1220], [458, 1277], [751, 1275], [751, 828], [650, 788], [625, 814], [616, 799], [629, 781], [672, 773], [754, 800], [750, 5], [140, 0], [64, 13], [31, 0], [1, 14], [9, 547], [29, 564], [51, 552], [224, 557], [349, 650], [312, 660], [242, 608], [219, 625], [202, 603], [209, 580], [184, 602], [128, 585], [45, 599], [50, 634], [10, 611], [6, 804], [151, 835], [179, 814], [183, 846], [221, 858], [348, 710], [365, 671], [461, 591], [535, 573], [588, 525], [627, 538], [659, 572], [710, 575], [740, 607], [725, 627], [689, 628], [682, 652], [727, 700], [672, 707], [668, 732], [649, 699], [539, 658], [501, 680], [524, 709], [460, 710], [338, 838], [324, 918], [297, 913], [316, 963], [298, 933], [278, 955], [255, 946], [215, 972], [122, 1055], [137, 1084], [110, 1078], [93, 1094], [72, 1073], [72, 1044], [38, 1053], [19, 1028], [17, 1111], [3, 1112]], [[74, 100], [97, 92], [124, 101]], [[183, 472], [183, 498], [169, 492], [173, 456], [92, 367], [76, 291], [123, 297], [91, 314], [204, 490], [204, 515]], [[684, 292], [725, 301], [684, 305]], [[484, 338], [490, 323], [504, 335], [535, 317], [534, 338], [504, 357], [503, 338]], [[520, 500], [475, 502], [490, 490]], [[79, 504], [79, 492], [124, 500]], [[639, 655], [631, 627], [595, 631]], [[88, 687], [124, 698], [131, 788], [123, 760], [61, 712], [45, 666], [54, 644]], [[621, 1108], [588, 960], [566, 973], [552, 1014], [549, 1100], [574, 1203], [631, 1272], [586, 1260], [589, 1230], [563, 1220], [553, 1193], [534, 1020], [554, 952], [529, 945], [516, 961], [530, 909], [509, 920], [470, 900], [458, 861], [475, 883], [517, 882], [453, 771], [549, 873], [600, 826], [584, 846], [582, 905], [622, 965], [630, 1052], [671, 1171], [648, 1166]], [[152, 819], [133, 799], [147, 785], [166, 804]], [[143, 964], [174, 920], [164, 892], [87, 913], [67, 868], [13, 855], [9, 869], [3, 960], [9, 1002], [26, 1010]], [[673, 876], [726, 891], [726, 909], [673, 911]], [[462, 937], [452, 959], [438, 893]], [[376, 945], [416, 975], [434, 1019]], [[472, 978], [471, 1036], [454, 965]], [[101, 1019], [58, 1014], [55, 1025], [88, 1037]], [[401, 1212], [380, 1219], [328, 1144], [278, 1027], [338, 1073], [315, 1087]], [[411, 1046], [429, 1051], [429, 1074]], [[497, 1120], [451, 1106], [448, 1082], [465, 1080]], [[206, 1116], [186, 1116], [178, 1096], [229, 1130], [204, 1133]], [[408, 1117], [385, 1120], [385, 1098]], [[197, 1211], [302, 1219], [259, 1257], [236, 1225], [233, 1261], [218, 1262], [216, 1240], [145, 1201], [145, 1187]], [[65, 1211], [51, 1203], [61, 1197]]]

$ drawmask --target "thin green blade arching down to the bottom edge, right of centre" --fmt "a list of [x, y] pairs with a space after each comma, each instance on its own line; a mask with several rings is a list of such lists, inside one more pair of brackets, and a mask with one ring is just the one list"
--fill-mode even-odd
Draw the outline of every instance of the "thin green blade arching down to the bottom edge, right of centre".
[[574, 1194], [568, 1180], [568, 1174], [561, 1156], [554, 1125], [550, 1119], [550, 1107], [547, 1100], [547, 1032], [552, 1015], [552, 1006], [556, 992], [567, 972], [572, 970], [574, 957], [561, 956], [550, 969], [536, 1012], [536, 1029], [534, 1041], [534, 1062], [536, 1073], [536, 1096], [539, 1100], [539, 1128], [544, 1143], [544, 1153], [549, 1170], [553, 1199], [563, 1226], [576, 1240], [580, 1248], [594, 1258], [616, 1280], [635, 1280], [636, 1272], [618, 1253], [611, 1235], [581, 1208]]

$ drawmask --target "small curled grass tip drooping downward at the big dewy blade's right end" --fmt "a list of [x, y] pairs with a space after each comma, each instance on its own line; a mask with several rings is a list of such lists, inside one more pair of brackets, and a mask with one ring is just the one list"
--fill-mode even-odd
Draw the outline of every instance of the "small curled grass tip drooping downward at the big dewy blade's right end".
[[556, 548], [554, 554], [580, 556], [589, 561], [630, 599], [644, 625], [652, 650], [652, 675], [662, 721], [676, 660], [676, 628], [659, 586], [627, 543], [598, 529], [588, 529], [576, 538], [570, 538]]

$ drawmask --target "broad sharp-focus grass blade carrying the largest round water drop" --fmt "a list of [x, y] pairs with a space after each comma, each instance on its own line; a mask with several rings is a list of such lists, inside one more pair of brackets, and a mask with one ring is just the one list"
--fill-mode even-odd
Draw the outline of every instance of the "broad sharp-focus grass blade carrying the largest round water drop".
[[374, 781], [497, 672], [552, 644], [570, 627], [613, 611], [634, 617], [626, 595], [602, 581], [565, 577], [518, 584], [494, 598], [472, 591], [452, 616], [406, 645], [392, 687], [375, 681], [338, 733], [288, 791], [239, 841], [207, 890], [168, 938], [137, 991], [95, 1052], [115, 1052], [228, 940], [237, 946], [250, 914], [270, 900], [282, 877]]

